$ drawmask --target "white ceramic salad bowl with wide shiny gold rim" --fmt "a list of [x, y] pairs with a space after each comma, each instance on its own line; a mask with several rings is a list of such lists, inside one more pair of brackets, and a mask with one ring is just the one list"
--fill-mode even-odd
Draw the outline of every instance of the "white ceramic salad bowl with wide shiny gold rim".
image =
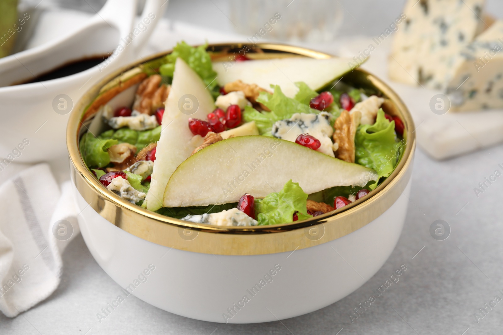
[[[328, 57], [281, 45], [256, 47]], [[382, 94], [387, 113], [403, 120], [407, 144], [395, 171], [367, 197], [333, 215], [246, 229], [169, 218], [107, 192], [77, 148], [84, 107], [106, 80], [89, 91], [67, 131], [71, 176], [82, 210], [79, 226], [98, 264], [125, 289], [122, 295], [132, 293], [163, 310], [200, 320], [265, 322], [327, 306], [371, 278], [403, 227], [415, 148], [413, 124], [401, 100], [378, 78], [356, 70], [345, 79]]]

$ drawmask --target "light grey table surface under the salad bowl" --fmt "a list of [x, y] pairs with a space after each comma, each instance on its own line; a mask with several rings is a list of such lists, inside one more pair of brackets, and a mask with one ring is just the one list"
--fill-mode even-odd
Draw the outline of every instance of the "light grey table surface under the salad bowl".
[[[503, 302], [487, 309], [484, 318], [475, 317], [495, 296], [503, 299], [498, 292], [503, 291], [503, 176], [478, 197], [474, 192], [494, 170], [503, 172], [499, 163], [503, 145], [443, 162], [418, 149], [405, 225], [390, 258], [357, 291], [315, 312], [275, 322], [221, 324], [171, 314], [129, 296], [100, 323], [96, 314], [121, 288], [78, 236], [63, 254], [58, 289], [16, 318], [0, 314], [0, 334], [501, 334]], [[451, 228], [445, 241], [430, 235], [437, 219]], [[352, 323], [353, 309], [402, 264], [407, 270], [399, 281]], [[218, 278], [203, 280], [211, 284]], [[317, 287], [299, 283], [299, 289]]]

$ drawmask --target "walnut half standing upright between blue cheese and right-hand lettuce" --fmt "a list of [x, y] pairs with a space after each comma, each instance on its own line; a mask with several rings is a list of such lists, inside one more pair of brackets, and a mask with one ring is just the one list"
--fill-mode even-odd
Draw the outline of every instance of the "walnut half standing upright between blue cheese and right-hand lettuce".
[[350, 114], [346, 109], [337, 118], [336, 124], [333, 126], [335, 128], [333, 141], [338, 146], [337, 158], [350, 163], [355, 162], [355, 134], [361, 118], [362, 113], [359, 110]]

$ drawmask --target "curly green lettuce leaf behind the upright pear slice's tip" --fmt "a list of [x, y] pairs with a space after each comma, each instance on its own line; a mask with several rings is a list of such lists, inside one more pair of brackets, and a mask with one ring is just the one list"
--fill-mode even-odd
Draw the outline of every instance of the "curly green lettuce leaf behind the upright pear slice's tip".
[[212, 92], [213, 96], [218, 95], [218, 83], [215, 80], [217, 73], [213, 70], [211, 57], [206, 52], [207, 44], [192, 47], [184, 41], [178, 43], [173, 52], [165, 57], [165, 64], [159, 67], [162, 76], [173, 77], [175, 62], [178, 57], [182, 58], [196, 73], [203, 79], [203, 82]]

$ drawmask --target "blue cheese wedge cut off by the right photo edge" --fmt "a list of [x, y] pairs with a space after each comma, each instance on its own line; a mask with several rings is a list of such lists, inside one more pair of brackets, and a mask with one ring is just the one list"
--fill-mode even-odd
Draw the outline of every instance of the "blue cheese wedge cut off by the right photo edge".
[[503, 21], [460, 52], [447, 94], [454, 111], [503, 108]]

